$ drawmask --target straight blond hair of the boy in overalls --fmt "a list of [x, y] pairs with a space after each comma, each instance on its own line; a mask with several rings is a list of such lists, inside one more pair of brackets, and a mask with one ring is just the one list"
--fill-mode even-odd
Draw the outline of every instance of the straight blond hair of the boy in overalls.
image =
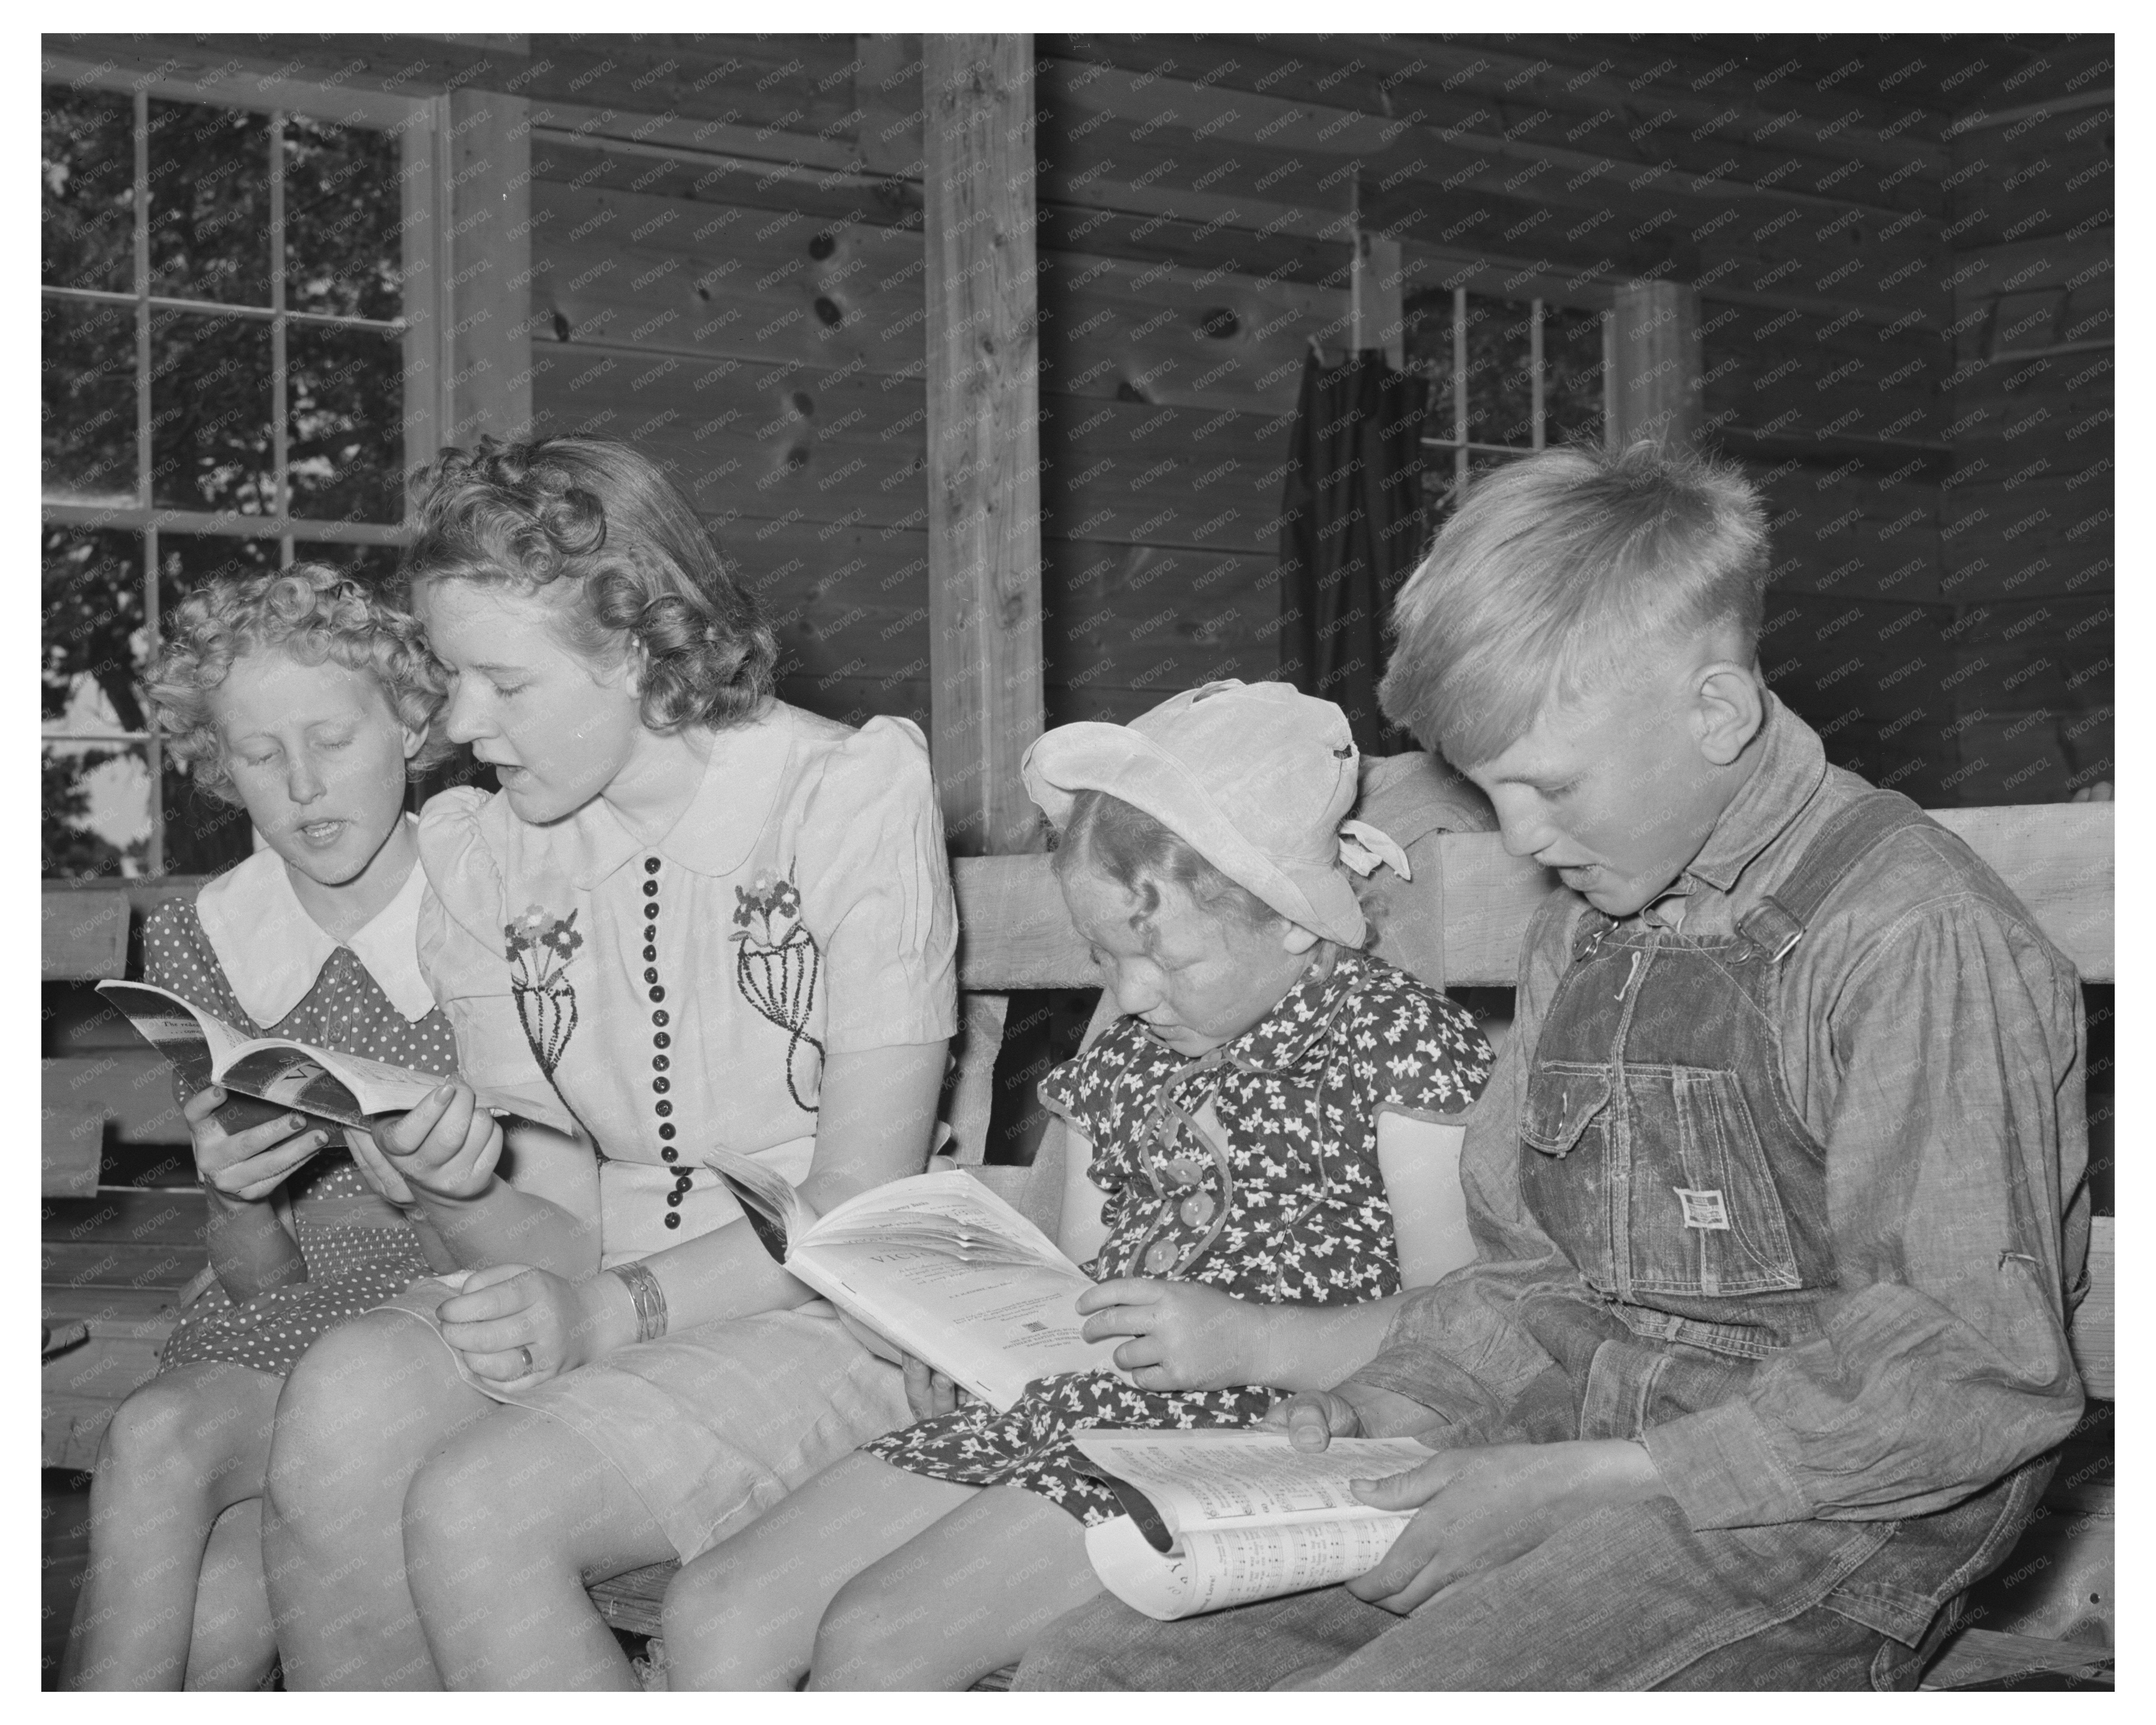
[[1716, 625], [1751, 660], [1766, 509], [1733, 468], [1654, 442], [1552, 448], [1483, 474], [1393, 602], [1378, 705], [1455, 768], [1651, 643]]

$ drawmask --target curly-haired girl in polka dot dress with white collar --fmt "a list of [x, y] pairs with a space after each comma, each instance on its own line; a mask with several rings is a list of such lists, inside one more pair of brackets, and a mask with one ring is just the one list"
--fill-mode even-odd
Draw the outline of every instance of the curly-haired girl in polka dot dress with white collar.
[[[218, 580], [172, 612], [149, 694], [172, 757], [246, 809], [263, 847], [149, 916], [144, 981], [246, 1035], [453, 1074], [455, 1039], [418, 970], [425, 873], [403, 813], [405, 776], [442, 753], [442, 681], [418, 625], [319, 565]], [[261, 1492], [285, 1374], [332, 1326], [448, 1268], [371, 1145], [362, 1175], [300, 1115], [263, 1121], [265, 1104], [216, 1087], [181, 1085], [179, 1104], [213, 1285], [106, 1430], [75, 1688], [267, 1675]]]

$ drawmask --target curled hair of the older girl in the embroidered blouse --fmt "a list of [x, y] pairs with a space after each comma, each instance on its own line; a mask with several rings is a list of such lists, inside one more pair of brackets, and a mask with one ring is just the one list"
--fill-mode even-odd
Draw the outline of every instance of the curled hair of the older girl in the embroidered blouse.
[[688, 498], [608, 438], [481, 438], [425, 474], [403, 582], [464, 580], [567, 597], [561, 632], [589, 660], [642, 649], [651, 731], [724, 727], [772, 694], [778, 640]]

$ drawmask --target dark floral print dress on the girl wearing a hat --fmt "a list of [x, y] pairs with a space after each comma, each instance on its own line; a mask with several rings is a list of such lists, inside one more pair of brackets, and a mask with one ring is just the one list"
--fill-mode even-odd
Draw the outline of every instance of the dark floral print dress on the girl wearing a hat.
[[[1093, 1184], [1108, 1195], [1108, 1240], [1084, 1272], [1300, 1305], [1397, 1292], [1378, 1117], [1457, 1115], [1490, 1061], [1464, 1007], [1363, 953], [1307, 972], [1263, 1022], [1199, 1061], [1136, 1018], [1117, 1020], [1041, 1082], [1041, 1102], [1091, 1138]], [[1192, 1119], [1205, 1102], [1222, 1128], [1216, 1147]], [[1072, 1427], [1255, 1425], [1270, 1402], [1261, 1384], [1164, 1393], [1072, 1371], [1037, 1380], [1009, 1412], [977, 1402], [862, 1449], [959, 1486], [1022, 1486], [1091, 1527], [1123, 1507], [1080, 1473]]]

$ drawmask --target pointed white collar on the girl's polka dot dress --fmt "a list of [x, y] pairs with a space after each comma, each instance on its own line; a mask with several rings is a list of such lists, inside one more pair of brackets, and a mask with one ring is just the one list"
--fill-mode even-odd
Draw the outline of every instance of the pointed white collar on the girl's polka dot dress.
[[[425, 891], [427, 871], [414, 862], [397, 897], [343, 942], [414, 1024], [433, 1011], [433, 992], [418, 970], [418, 901]], [[257, 1024], [276, 1024], [298, 1007], [338, 947], [306, 914], [285, 873], [285, 858], [274, 850], [259, 850], [209, 882], [194, 912], [233, 996]]]

